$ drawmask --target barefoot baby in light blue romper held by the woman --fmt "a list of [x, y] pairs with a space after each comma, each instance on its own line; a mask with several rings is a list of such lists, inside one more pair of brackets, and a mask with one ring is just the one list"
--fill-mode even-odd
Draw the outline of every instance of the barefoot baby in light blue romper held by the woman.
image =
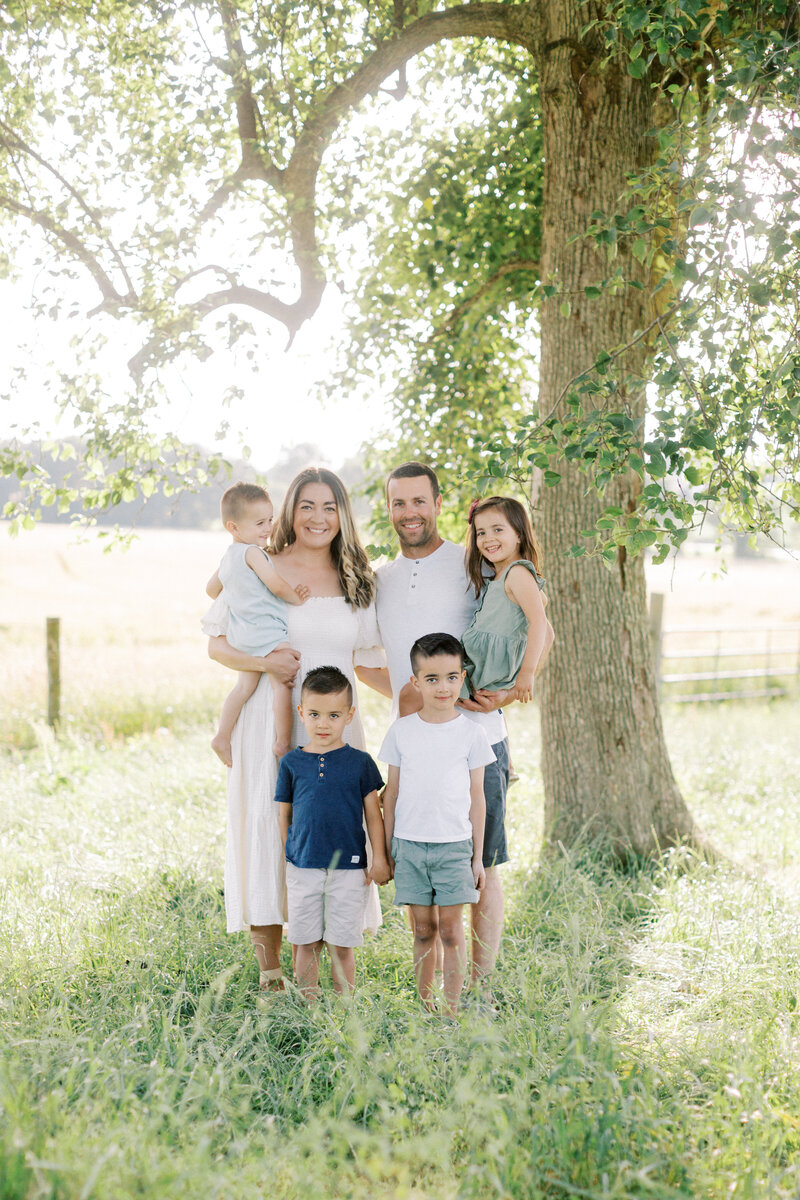
[[[222, 523], [233, 538], [218, 569], [205, 590], [212, 600], [225, 589], [230, 608], [228, 642], [246, 654], [269, 654], [289, 646], [285, 605], [305, 604], [308, 588], [293, 588], [281, 578], [266, 553], [272, 532], [272, 502], [258, 484], [234, 484], [219, 504]], [[219, 714], [219, 728], [211, 746], [225, 767], [233, 766], [230, 736], [245, 701], [255, 691], [260, 674], [240, 671], [236, 684]], [[281, 758], [289, 749], [291, 734], [291, 688], [270, 677], [273, 690], [275, 745], [272, 752]]]

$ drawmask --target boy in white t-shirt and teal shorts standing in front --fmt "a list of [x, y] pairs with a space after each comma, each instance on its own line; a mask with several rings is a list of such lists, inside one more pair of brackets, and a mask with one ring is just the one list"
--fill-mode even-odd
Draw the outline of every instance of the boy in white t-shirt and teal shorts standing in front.
[[414, 918], [414, 971], [433, 1009], [437, 936], [444, 948], [447, 1013], [458, 1010], [467, 971], [463, 906], [486, 878], [483, 768], [494, 762], [485, 731], [457, 712], [464, 652], [451, 634], [426, 634], [411, 647], [411, 683], [422, 708], [389, 730], [379, 758], [389, 764], [384, 794], [386, 853], [395, 904]]

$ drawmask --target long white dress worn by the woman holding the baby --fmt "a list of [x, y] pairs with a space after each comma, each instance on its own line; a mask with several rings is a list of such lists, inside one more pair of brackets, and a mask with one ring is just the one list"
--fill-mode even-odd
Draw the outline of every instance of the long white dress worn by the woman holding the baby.
[[[374, 604], [368, 608], [353, 608], [343, 596], [312, 596], [303, 605], [288, 606], [288, 624], [289, 646], [300, 653], [293, 704], [300, 703], [300, 685], [308, 671], [338, 667], [353, 684], [355, 703], [355, 716], [344, 730], [344, 739], [365, 750], [354, 667], [386, 665]], [[203, 631], [210, 637], [227, 634], [224, 592], [203, 618]], [[291, 745], [305, 745], [307, 740], [295, 710]], [[272, 798], [278, 773], [273, 742], [272, 686], [269, 676], [264, 674], [242, 708], [231, 739], [224, 876], [229, 934], [251, 925], [282, 925], [287, 919], [278, 805]], [[372, 883], [365, 929], [374, 931], [380, 923], [378, 888]]]

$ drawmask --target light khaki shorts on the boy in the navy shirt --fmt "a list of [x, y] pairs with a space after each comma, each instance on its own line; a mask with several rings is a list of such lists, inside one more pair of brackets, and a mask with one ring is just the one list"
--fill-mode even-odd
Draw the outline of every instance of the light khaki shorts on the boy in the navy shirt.
[[293, 946], [363, 943], [363, 911], [369, 888], [363, 868], [355, 871], [287, 863], [289, 941]]

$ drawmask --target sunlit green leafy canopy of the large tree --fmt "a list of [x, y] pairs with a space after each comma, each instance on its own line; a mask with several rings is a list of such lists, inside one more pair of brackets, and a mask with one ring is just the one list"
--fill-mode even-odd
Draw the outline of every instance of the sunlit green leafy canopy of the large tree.
[[[594, 530], [610, 554], [620, 539], [666, 551], [709, 504], [768, 532], [796, 511], [796, 5], [582, 10], [591, 70], [621, 52], [656, 96], [648, 161], [584, 230], [607, 257], [587, 292], [646, 290], [648, 353], [599, 347], [559, 413], [536, 404], [539, 306], [557, 296], [569, 322], [575, 301], [539, 263], [540, 7], [4, 7], [4, 263], [29, 246], [46, 268], [42, 318], [71, 312], [85, 349], [52, 386], [90, 462], [126, 464], [86, 506], [162, 485], [148, 416], [166, 364], [248, 338], [253, 354], [265, 320], [291, 338], [344, 280], [350, 338], [323, 389], [391, 390], [392, 451], [432, 457], [457, 491], [510, 474], [527, 491], [531, 466], [554, 485], [565, 456], [601, 488], [633, 467], [636, 514], [620, 524], [610, 505]], [[409, 74], [408, 125], [365, 124]], [[131, 347], [126, 394], [92, 370], [109, 336]], [[625, 401], [636, 383], [645, 428]], [[74, 499], [13, 443], [1, 469], [24, 485], [11, 516]]]

